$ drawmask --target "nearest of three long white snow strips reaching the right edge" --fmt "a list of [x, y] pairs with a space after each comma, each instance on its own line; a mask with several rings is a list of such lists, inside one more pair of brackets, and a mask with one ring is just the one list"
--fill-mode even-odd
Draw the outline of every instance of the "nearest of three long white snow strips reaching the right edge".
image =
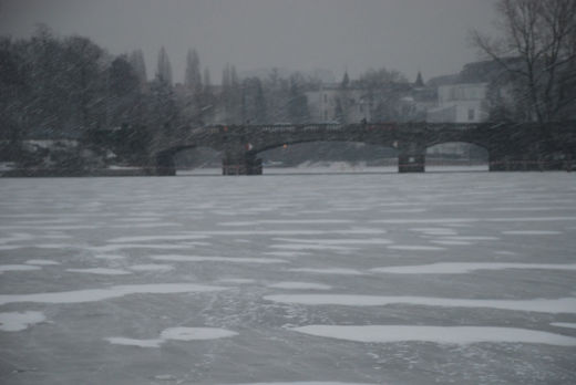
[[439, 344], [531, 343], [576, 346], [576, 337], [515, 327], [490, 326], [407, 326], [407, 325], [309, 325], [294, 331], [338, 340], [393, 343], [434, 342]]

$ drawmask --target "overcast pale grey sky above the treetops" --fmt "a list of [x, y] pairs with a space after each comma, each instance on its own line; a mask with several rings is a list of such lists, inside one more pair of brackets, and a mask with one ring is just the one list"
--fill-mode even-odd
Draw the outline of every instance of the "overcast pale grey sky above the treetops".
[[189, 48], [214, 83], [229, 62], [263, 67], [385, 66], [424, 80], [477, 59], [471, 29], [490, 31], [494, 0], [0, 0], [0, 34], [30, 35], [44, 22], [59, 35], [92, 38], [113, 54], [142, 48], [148, 76], [164, 45], [174, 77]]

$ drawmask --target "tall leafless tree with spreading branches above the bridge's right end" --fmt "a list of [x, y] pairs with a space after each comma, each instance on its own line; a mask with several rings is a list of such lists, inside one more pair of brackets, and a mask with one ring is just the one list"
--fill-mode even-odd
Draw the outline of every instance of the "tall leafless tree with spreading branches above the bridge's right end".
[[576, 114], [576, 0], [498, 0], [493, 39], [472, 32], [473, 43], [511, 75], [542, 125]]

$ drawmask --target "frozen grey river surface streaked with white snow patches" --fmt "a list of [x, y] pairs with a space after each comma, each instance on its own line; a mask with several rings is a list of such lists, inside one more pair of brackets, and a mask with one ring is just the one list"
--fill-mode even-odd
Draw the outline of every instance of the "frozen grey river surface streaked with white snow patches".
[[574, 384], [567, 173], [0, 180], [2, 384]]

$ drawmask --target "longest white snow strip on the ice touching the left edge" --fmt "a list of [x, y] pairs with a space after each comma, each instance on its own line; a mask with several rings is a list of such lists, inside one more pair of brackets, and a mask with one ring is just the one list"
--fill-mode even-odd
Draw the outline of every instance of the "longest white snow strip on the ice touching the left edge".
[[227, 289], [228, 288], [224, 287], [202, 285], [194, 283], [128, 284], [110, 287], [105, 289], [85, 289], [32, 294], [6, 294], [0, 295], [0, 305], [19, 302], [84, 303], [110, 300], [130, 294], [203, 293]]

